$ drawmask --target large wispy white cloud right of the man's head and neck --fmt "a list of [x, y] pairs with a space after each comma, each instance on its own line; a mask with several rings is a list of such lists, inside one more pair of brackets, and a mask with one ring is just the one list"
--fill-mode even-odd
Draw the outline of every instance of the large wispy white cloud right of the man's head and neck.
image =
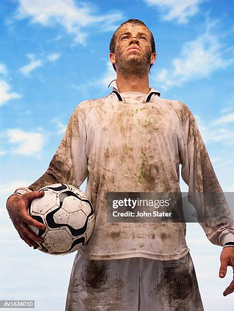
[[206, 32], [183, 45], [180, 55], [172, 61], [172, 68], [163, 68], [157, 74], [155, 81], [161, 88], [168, 89], [186, 81], [206, 78], [215, 70], [234, 64], [233, 56], [225, 57], [233, 47], [224, 48], [219, 36], [210, 32], [215, 23], [207, 22]]

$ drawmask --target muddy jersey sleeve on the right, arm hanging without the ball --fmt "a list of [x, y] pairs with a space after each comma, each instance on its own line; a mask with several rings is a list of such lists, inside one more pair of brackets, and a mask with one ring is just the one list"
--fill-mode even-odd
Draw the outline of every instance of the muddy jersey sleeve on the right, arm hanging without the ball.
[[216, 245], [234, 242], [234, 225], [229, 206], [211, 164], [196, 121], [183, 106], [181, 175], [188, 185], [188, 201], [195, 207], [199, 224]]

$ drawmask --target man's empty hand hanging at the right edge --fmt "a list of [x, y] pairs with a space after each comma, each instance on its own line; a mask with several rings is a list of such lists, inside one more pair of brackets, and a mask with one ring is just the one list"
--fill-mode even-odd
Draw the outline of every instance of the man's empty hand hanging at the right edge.
[[220, 269], [219, 269], [219, 277], [224, 277], [227, 272], [227, 266], [231, 266], [233, 270], [233, 280], [230, 285], [223, 292], [223, 296], [227, 296], [234, 292], [234, 246], [228, 246], [223, 248], [222, 253], [220, 255]]

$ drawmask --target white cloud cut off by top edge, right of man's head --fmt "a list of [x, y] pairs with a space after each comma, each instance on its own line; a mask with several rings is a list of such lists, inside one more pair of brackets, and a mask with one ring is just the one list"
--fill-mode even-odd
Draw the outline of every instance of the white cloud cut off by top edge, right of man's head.
[[176, 19], [178, 23], [187, 23], [188, 18], [198, 13], [198, 5], [204, 0], [144, 0], [151, 6], [156, 6], [167, 12], [164, 20]]

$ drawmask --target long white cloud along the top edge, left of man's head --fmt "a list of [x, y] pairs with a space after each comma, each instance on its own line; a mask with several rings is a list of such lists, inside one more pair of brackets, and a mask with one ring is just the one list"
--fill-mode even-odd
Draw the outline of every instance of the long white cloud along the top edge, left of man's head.
[[[122, 19], [122, 14], [93, 15], [94, 4], [75, 2], [74, 0], [19, 0], [17, 18], [30, 17], [33, 23], [43, 26], [62, 25], [66, 32], [75, 36], [75, 41], [85, 44], [88, 36], [83, 27], [100, 25], [111, 26]], [[105, 27], [106, 25], [106, 27]]]

